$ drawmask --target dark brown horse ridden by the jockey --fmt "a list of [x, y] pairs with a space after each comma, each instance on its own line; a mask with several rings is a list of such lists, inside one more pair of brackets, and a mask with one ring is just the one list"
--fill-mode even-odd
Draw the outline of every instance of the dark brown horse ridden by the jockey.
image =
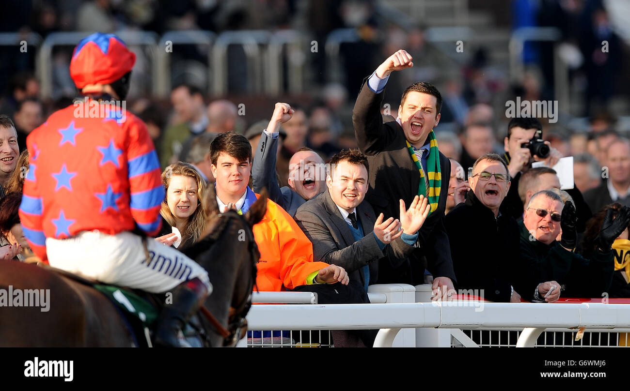
[[[265, 215], [266, 196], [261, 196], [245, 216], [234, 211], [219, 214], [214, 186], [210, 185], [209, 190], [206, 234], [183, 252], [207, 270], [212, 282], [213, 291], [205, 300], [205, 309], [221, 328], [238, 336], [236, 328], [241, 326], [241, 316], [244, 318], [251, 304], [255, 263], [260, 257], [251, 227]], [[6, 292], [9, 286], [13, 291], [37, 289], [42, 294], [40, 305], [30, 307], [3, 306], [0, 297], [0, 346], [134, 345], [118, 309], [105, 295], [88, 285], [49, 268], [0, 262], [0, 290]], [[49, 292], [47, 299], [45, 290]], [[226, 341], [234, 342], [236, 336], [226, 338], [225, 331], [223, 334], [215, 331], [204, 316], [200, 318], [209, 332], [207, 345], [224, 346]]]

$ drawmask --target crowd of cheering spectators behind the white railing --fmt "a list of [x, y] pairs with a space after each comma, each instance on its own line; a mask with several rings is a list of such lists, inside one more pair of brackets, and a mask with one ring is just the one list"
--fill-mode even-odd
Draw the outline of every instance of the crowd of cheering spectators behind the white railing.
[[[250, 121], [234, 102], [209, 101], [185, 83], [171, 91], [172, 110], [150, 99], [129, 104], [163, 170], [157, 242], [185, 248], [198, 240], [203, 193], [214, 184], [221, 212], [246, 213], [263, 190], [270, 197], [253, 228], [260, 290], [326, 297], [322, 289], [337, 284], [341, 294], [331, 302], [369, 302], [369, 285], [395, 282], [432, 284], [435, 299], [444, 300], [455, 289], [501, 302], [628, 297], [630, 141], [616, 119], [593, 115], [588, 133], [566, 134], [536, 118], [498, 121], [502, 113], [486, 100], [492, 91], [479, 68], [466, 88], [447, 80], [443, 94], [417, 82], [432, 80], [435, 63], [425, 63], [431, 55], [415, 33], [405, 38], [415, 45], [409, 52], [350, 72], [363, 80], [357, 96], [329, 85], [321, 101], [278, 102], [265, 119]], [[38, 151], [25, 150], [26, 139], [52, 126], [44, 123], [50, 109], [72, 106], [59, 99], [46, 107], [38, 90], [32, 75], [16, 74], [0, 106], [4, 260], [37, 261], [18, 213], [24, 180], [35, 181], [28, 153]], [[442, 113], [451, 125], [444, 131]], [[546, 156], [525, 146], [535, 135], [545, 140]], [[553, 168], [563, 157], [573, 157], [574, 185], [566, 189]], [[338, 336], [345, 346], [373, 340], [370, 333]]]

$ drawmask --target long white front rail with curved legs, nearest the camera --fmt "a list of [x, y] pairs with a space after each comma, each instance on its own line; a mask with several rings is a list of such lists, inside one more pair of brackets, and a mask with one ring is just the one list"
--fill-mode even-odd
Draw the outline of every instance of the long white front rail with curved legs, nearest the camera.
[[396, 334], [403, 328], [520, 326], [529, 330], [521, 333], [517, 346], [534, 346], [537, 337], [546, 328], [630, 328], [628, 309], [627, 304], [269, 304], [253, 306], [248, 324], [250, 328], [260, 330], [381, 329], [375, 346], [391, 346]]

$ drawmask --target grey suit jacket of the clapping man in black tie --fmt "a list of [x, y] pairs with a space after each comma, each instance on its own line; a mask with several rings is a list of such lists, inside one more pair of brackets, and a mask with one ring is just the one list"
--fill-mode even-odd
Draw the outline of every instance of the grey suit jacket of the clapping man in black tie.
[[357, 206], [356, 212], [365, 234], [358, 241], [328, 189], [299, 207], [295, 221], [313, 245], [313, 261], [341, 266], [351, 279], [362, 285], [365, 285], [365, 278], [360, 269], [370, 265], [369, 282], [374, 284], [378, 280], [379, 262], [388, 262], [392, 268], [399, 267], [413, 251], [413, 246], [398, 238], [381, 251], [372, 233], [377, 217], [374, 209], [364, 201]]

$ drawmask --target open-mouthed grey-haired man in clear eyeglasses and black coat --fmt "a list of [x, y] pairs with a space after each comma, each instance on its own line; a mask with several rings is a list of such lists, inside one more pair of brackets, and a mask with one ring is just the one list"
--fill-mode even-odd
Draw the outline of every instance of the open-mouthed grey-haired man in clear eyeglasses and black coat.
[[[468, 183], [472, 191], [466, 201], [446, 216], [457, 287], [495, 302], [532, 300], [536, 282], [520, 272], [518, 225], [499, 212], [510, 189], [507, 164], [496, 153], [486, 153], [474, 163]], [[544, 286], [549, 290], [551, 284]], [[558, 297], [556, 292], [549, 301]]]

